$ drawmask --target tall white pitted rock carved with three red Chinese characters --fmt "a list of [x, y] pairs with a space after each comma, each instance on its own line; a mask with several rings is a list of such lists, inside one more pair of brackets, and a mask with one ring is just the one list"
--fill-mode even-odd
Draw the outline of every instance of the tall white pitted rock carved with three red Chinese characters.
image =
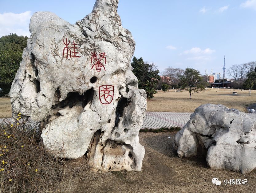
[[87, 155], [97, 171], [141, 171], [138, 132], [146, 93], [131, 71], [135, 42], [122, 27], [118, 0], [96, 0], [92, 13], [69, 24], [37, 12], [10, 97], [13, 120], [41, 121], [55, 157]]

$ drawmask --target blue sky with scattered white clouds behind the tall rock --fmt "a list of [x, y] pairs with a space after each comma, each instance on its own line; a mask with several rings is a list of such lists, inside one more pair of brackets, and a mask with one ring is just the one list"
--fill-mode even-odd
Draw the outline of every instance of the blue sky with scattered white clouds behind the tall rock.
[[[74, 24], [95, 0], [0, 0], [0, 36], [29, 35], [31, 15], [51, 11]], [[136, 41], [134, 56], [166, 67], [221, 72], [233, 64], [256, 61], [256, 0], [120, 0], [122, 25]]]

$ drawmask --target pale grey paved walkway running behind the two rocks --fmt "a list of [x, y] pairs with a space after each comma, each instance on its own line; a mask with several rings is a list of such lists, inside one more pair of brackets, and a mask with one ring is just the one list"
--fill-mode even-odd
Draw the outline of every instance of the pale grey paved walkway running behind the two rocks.
[[[171, 112], [146, 112], [143, 120], [142, 129], [144, 128], [161, 128], [161, 127], [180, 127], [189, 121], [192, 113], [171, 113]], [[8, 118], [8, 121], [12, 121]], [[2, 119], [0, 119], [0, 123]]]

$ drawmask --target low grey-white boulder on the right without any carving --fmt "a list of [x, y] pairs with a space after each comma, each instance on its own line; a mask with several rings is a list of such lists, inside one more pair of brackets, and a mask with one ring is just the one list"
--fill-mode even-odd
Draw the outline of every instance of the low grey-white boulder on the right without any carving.
[[201, 105], [175, 135], [180, 158], [206, 155], [212, 169], [250, 173], [256, 167], [255, 119], [223, 105]]

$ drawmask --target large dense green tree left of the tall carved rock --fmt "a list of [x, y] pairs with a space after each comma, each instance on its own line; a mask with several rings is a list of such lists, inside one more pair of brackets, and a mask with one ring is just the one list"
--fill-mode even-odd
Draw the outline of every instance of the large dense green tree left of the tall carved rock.
[[9, 93], [12, 81], [22, 61], [22, 52], [27, 45], [27, 36], [16, 34], [0, 38], [0, 88]]

